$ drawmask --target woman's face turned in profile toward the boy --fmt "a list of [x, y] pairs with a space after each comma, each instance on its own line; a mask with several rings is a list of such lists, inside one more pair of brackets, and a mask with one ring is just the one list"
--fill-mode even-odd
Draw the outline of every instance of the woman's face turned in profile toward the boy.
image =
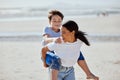
[[71, 42], [71, 40], [74, 38], [74, 31], [70, 32], [65, 27], [62, 27], [61, 36], [64, 42]]

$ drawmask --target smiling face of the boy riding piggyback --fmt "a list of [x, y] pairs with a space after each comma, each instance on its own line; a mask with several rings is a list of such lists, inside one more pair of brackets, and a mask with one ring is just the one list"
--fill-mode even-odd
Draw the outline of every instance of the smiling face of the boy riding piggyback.
[[54, 15], [51, 18], [50, 25], [54, 29], [60, 29], [62, 24], [62, 18], [58, 15]]

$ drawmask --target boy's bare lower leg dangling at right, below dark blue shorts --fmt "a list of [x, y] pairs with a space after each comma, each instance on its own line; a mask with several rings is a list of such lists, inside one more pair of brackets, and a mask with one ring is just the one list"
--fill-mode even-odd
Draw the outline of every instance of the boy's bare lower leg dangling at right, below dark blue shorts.
[[91, 71], [90, 71], [89, 67], [87, 66], [87, 63], [86, 63], [86, 61], [85, 61], [85, 59], [84, 59], [84, 56], [82, 55], [81, 52], [80, 52], [80, 57], [79, 57], [79, 59], [78, 59], [78, 65], [79, 65], [79, 66], [82, 68], [82, 70], [85, 72], [87, 78], [88, 78], [89, 76], [92, 76], [93, 78], [95, 78], [95, 80], [99, 80], [97, 76], [94, 76], [94, 75], [91, 73]]

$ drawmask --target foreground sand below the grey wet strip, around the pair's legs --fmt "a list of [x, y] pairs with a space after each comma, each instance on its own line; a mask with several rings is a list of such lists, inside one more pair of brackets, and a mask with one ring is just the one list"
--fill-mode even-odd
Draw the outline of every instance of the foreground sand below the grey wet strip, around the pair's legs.
[[[96, 42], [82, 51], [90, 70], [100, 80], [120, 79], [120, 43]], [[40, 60], [39, 42], [0, 42], [0, 80], [48, 80], [48, 69]], [[76, 80], [85, 80], [75, 65]]]

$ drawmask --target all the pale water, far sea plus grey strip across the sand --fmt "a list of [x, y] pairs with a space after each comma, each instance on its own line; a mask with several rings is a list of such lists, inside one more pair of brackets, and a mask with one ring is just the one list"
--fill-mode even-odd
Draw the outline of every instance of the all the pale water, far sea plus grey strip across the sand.
[[[1, 21], [39, 20], [47, 17], [48, 11], [60, 10], [65, 17], [95, 17], [100, 14], [120, 14], [120, 0], [0, 0]], [[120, 35], [90, 35], [95, 40], [120, 41]], [[99, 38], [98, 38], [99, 36]], [[106, 37], [108, 36], [108, 37]], [[41, 35], [31, 33], [0, 33], [0, 41], [38, 40]], [[104, 40], [104, 39], [103, 39]]]

